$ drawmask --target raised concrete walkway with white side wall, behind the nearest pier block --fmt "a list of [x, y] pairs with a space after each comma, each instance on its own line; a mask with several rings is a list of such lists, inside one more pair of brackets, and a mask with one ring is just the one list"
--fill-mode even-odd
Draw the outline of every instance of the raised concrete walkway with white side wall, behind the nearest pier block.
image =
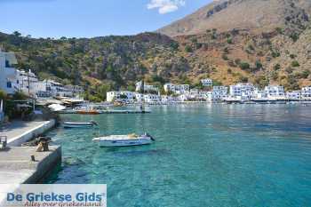
[[19, 147], [22, 143], [33, 139], [45, 131], [52, 129], [55, 125], [55, 120], [50, 121], [34, 121], [34, 122], [21, 122], [16, 121], [4, 126], [0, 130], [0, 136], [8, 138], [9, 147]]

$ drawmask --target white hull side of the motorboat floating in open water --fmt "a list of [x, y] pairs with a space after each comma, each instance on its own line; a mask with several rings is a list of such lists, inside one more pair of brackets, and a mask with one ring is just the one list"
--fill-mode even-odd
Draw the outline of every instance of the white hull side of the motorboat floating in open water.
[[130, 147], [130, 146], [140, 146], [149, 145], [152, 143], [151, 139], [124, 139], [124, 140], [100, 140], [100, 147]]

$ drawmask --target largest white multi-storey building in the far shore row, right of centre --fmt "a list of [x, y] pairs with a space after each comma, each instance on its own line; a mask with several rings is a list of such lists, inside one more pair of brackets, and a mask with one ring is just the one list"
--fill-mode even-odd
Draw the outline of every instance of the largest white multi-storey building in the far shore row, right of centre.
[[235, 84], [230, 85], [229, 94], [231, 97], [241, 98], [241, 100], [250, 100], [254, 92], [253, 84]]

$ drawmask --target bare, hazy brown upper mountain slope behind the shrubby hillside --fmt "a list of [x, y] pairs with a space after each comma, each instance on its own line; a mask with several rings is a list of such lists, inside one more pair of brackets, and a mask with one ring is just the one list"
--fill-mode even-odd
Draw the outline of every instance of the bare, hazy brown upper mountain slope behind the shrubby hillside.
[[182, 36], [213, 28], [220, 32], [243, 28], [256, 33], [284, 27], [300, 29], [306, 27], [310, 14], [310, 0], [220, 0], [157, 32]]

